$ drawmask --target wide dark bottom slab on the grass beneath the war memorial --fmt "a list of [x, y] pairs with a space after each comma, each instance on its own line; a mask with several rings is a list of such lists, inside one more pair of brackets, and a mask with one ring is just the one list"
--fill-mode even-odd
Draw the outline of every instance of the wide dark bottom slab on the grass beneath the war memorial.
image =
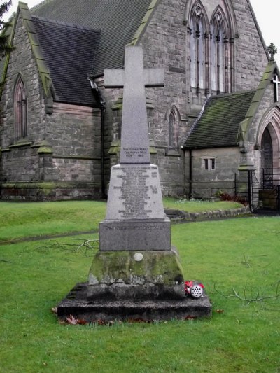
[[65, 320], [74, 316], [87, 322], [129, 321], [168, 321], [172, 318], [184, 320], [188, 317], [211, 316], [209, 297], [198, 299], [186, 297], [183, 300], [87, 300], [87, 283], [78, 283], [57, 306], [57, 316]]

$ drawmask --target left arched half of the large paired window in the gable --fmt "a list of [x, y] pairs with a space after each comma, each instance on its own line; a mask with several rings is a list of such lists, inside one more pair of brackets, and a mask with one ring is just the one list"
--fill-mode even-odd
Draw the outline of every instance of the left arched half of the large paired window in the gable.
[[190, 85], [198, 92], [207, 87], [207, 35], [204, 8], [198, 2], [190, 19]]

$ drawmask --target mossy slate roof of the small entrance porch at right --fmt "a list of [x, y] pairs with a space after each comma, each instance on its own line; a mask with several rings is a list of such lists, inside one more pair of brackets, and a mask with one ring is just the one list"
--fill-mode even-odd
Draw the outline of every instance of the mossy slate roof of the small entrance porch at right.
[[219, 94], [206, 102], [183, 148], [238, 146], [239, 125], [251, 106], [255, 91]]

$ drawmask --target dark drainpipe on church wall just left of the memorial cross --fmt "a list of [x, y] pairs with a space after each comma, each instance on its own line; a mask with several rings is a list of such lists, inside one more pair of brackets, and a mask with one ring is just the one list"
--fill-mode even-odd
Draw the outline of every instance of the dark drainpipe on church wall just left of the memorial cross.
[[94, 82], [92, 77], [88, 77], [90, 80], [90, 85], [92, 90], [97, 93], [97, 97], [99, 99], [100, 110], [101, 110], [101, 147], [100, 147], [100, 159], [101, 159], [101, 191], [102, 191], [102, 198], [106, 199], [106, 192], [105, 192], [105, 167], [104, 167], [104, 118], [105, 118], [105, 111], [106, 111], [106, 101], [104, 97], [102, 97], [102, 93], [99, 90], [97, 83]]

